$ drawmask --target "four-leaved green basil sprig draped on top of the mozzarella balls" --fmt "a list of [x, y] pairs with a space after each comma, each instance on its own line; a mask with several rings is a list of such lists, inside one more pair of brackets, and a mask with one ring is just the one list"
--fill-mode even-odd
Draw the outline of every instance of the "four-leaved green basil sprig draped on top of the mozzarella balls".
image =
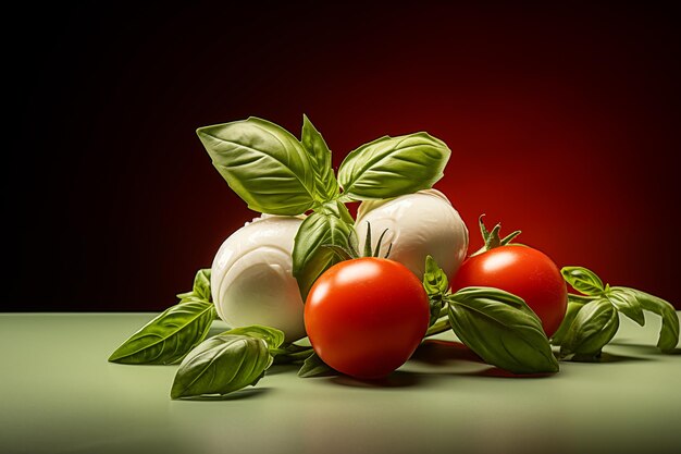
[[293, 274], [304, 298], [338, 258], [322, 246], [347, 248], [354, 220], [345, 203], [383, 199], [433, 186], [451, 151], [426, 134], [382, 137], [351, 151], [336, 179], [320, 132], [304, 115], [300, 140], [255, 116], [199, 127], [213, 165], [255, 211], [310, 213], [294, 242]]

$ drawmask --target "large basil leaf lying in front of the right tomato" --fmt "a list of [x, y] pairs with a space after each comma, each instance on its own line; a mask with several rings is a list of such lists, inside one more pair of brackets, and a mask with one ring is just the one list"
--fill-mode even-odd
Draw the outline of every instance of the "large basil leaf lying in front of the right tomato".
[[454, 332], [485, 363], [513, 373], [558, 371], [542, 322], [518, 296], [498, 289], [466, 287], [448, 300]]

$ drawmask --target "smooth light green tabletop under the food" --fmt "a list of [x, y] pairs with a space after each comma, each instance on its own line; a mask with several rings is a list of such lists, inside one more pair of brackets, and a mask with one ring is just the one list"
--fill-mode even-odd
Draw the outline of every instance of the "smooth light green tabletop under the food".
[[278, 366], [200, 402], [169, 397], [177, 366], [107, 361], [153, 316], [0, 315], [0, 452], [681, 452], [680, 349], [657, 353], [655, 315], [644, 328], [622, 318], [603, 363], [548, 378], [502, 377], [431, 344], [380, 383]]

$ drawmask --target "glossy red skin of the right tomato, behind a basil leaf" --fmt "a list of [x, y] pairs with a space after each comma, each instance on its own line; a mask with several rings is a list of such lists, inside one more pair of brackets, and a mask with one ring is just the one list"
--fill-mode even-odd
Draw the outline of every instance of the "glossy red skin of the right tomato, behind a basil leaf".
[[451, 280], [451, 291], [466, 286], [492, 286], [520, 296], [542, 320], [548, 338], [568, 307], [560, 270], [547, 255], [529, 246], [499, 246], [469, 257]]

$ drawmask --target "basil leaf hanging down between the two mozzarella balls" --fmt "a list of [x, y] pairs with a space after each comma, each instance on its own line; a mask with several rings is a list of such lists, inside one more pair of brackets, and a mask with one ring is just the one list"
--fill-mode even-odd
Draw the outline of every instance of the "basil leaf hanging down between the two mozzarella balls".
[[352, 226], [334, 211], [334, 205], [324, 206], [308, 216], [300, 224], [294, 240], [293, 274], [298, 281], [302, 300], [321, 273], [340, 259], [327, 245], [348, 248], [348, 236]]

